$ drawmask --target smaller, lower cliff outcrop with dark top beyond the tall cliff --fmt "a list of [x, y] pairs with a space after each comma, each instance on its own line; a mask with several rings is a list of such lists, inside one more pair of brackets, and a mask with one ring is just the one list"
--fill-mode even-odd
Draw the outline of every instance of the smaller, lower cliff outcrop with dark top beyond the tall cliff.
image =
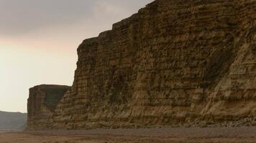
[[69, 89], [62, 85], [39, 85], [29, 89], [27, 128], [50, 129], [54, 110]]

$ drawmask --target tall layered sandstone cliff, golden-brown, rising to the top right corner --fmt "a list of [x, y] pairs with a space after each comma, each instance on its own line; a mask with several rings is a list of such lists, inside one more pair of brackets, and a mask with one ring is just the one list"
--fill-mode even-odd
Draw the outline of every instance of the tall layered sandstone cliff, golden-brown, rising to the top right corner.
[[156, 0], [78, 47], [52, 128], [253, 125], [255, 54], [255, 0]]

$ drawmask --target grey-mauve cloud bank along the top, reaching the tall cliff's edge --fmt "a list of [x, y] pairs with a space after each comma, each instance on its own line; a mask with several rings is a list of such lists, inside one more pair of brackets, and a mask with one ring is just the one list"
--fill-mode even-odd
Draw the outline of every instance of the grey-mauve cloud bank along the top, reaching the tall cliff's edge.
[[0, 0], [0, 34], [27, 34], [42, 27], [93, 20], [93, 16], [113, 19], [116, 15], [132, 14], [148, 2], [150, 0]]

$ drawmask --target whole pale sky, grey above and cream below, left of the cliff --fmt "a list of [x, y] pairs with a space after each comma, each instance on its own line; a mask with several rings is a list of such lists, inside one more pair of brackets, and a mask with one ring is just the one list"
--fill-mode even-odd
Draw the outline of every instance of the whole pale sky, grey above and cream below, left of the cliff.
[[35, 85], [72, 85], [83, 39], [151, 1], [0, 0], [0, 110], [27, 112]]

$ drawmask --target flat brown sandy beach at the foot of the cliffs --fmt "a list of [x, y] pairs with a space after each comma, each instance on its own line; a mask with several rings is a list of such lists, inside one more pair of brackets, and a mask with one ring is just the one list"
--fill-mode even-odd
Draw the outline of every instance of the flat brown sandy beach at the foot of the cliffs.
[[256, 142], [256, 127], [92, 129], [0, 133], [0, 143]]

